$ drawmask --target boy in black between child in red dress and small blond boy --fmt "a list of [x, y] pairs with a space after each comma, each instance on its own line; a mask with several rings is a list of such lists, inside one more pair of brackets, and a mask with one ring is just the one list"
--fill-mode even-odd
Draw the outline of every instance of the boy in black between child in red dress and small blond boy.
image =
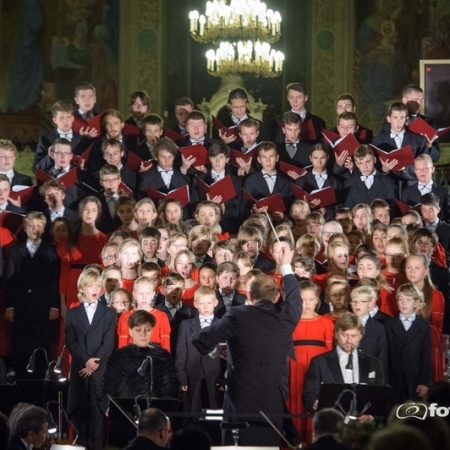
[[183, 290], [184, 278], [176, 272], [169, 273], [162, 282], [164, 300], [155, 306], [156, 309], [163, 311], [169, 319], [170, 348], [174, 358], [176, 357], [180, 325], [183, 320], [192, 319], [196, 314], [195, 308], [182, 302]]

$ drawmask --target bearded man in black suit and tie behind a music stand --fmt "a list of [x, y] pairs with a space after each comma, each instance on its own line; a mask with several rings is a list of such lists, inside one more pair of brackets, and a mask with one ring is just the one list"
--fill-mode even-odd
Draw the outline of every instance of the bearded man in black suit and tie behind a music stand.
[[385, 384], [380, 361], [358, 350], [363, 334], [364, 327], [355, 314], [345, 313], [337, 320], [336, 348], [314, 357], [306, 372], [302, 400], [308, 411], [317, 409], [321, 383]]

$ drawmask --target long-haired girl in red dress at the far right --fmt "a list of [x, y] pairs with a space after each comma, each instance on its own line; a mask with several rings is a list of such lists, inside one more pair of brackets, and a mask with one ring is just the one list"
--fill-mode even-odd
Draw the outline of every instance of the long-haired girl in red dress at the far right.
[[428, 257], [414, 253], [406, 258], [405, 273], [409, 282], [413, 283], [424, 294], [424, 306], [419, 314], [431, 324], [431, 369], [432, 380], [444, 379], [445, 349], [447, 338], [442, 337], [444, 323], [445, 300], [441, 291], [434, 288], [428, 269]]

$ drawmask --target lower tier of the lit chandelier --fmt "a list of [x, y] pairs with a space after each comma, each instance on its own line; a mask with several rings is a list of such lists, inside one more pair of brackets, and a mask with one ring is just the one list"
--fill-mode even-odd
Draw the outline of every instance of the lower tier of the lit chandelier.
[[215, 77], [225, 74], [253, 73], [255, 76], [277, 77], [283, 70], [284, 55], [270, 49], [267, 42], [221, 42], [219, 48], [206, 52], [208, 73]]

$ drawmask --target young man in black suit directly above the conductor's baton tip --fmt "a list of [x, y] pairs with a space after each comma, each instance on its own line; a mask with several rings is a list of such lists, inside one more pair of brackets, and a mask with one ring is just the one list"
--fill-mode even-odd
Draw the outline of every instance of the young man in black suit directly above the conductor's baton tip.
[[[294, 201], [291, 181], [287, 175], [277, 171], [278, 160], [279, 155], [276, 145], [270, 141], [263, 142], [258, 148], [258, 162], [262, 169], [247, 177], [244, 182], [244, 189], [256, 200], [261, 200], [273, 194], [280, 194], [286, 209], [289, 210]], [[261, 208], [252, 206], [252, 213], [254, 214], [264, 214], [266, 211], [267, 206]], [[272, 215], [278, 220], [284, 218], [282, 211], [275, 211]]]

